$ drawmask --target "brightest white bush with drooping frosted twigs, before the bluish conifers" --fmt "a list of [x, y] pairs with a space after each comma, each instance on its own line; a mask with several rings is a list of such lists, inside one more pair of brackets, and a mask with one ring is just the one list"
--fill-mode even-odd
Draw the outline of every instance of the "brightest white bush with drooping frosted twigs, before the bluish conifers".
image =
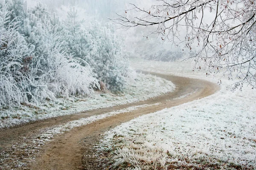
[[[93, 88], [99, 88], [98, 80], [90, 67], [82, 66], [78, 60], [71, 57], [63, 57], [59, 54], [58, 57], [59, 67], [56, 69], [55, 77], [56, 82], [52, 86], [55, 87], [51, 91], [61, 96], [85, 96], [93, 93]], [[51, 83], [49, 83], [51, 85]]]

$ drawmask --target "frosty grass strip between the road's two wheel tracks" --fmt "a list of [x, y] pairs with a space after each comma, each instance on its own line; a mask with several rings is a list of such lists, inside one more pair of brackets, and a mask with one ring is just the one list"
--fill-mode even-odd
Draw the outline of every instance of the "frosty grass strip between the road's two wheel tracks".
[[[158, 105], [158, 103], [152, 105]], [[12, 147], [7, 147], [5, 150], [0, 152], [1, 168], [12, 169], [13, 167], [15, 167], [16, 169], [17, 167], [26, 167], [29, 162], [35, 160], [35, 154], [41, 150], [42, 145], [52, 140], [55, 136], [70, 131], [75, 127], [87, 125], [100, 119], [104, 119], [121, 113], [128, 113], [137, 110], [138, 108], [145, 108], [152, 105], [138, 105], [134, 107], [128, 107], [109, 113], [103, 113], [101, 115], [95, 115], [88, 118], [70, 121], [62, 125], [56, 125], [53, 127], [41, 129], [39, 130], [39, 132], [24, 137], [23, 139], [21, 139], [21, 141], [12, 145]]]

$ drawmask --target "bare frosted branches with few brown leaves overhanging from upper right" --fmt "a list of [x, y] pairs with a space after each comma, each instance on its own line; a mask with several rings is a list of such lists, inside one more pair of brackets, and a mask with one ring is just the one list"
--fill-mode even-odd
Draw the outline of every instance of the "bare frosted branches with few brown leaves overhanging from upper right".
[[[150, 7], [132, 8], [113, 19], [123, 27], [145, 26], [149, 34], [178, 45], [183, 42], [207, 74], [224, 70], [256, 86], [255, 0], [155, 0]], [[198, 47], [196, 47], [198, 46]]]

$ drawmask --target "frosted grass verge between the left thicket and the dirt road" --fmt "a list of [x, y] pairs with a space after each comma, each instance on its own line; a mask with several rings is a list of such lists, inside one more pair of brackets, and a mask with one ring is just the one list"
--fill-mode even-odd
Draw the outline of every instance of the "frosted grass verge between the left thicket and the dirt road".
[[23, 105], [20, 108], [0, 110], [0, 128], [9, 127], [29, 121], [47, 119], [67, 114], [90, 111], [98, 108], [107, 108], [138, 102], [173, 91], [172, 82], [152, 75], [137, 74], [123, 93], [99, 93], [89, 98], [57, 99], [46, 102], [44, 105]]

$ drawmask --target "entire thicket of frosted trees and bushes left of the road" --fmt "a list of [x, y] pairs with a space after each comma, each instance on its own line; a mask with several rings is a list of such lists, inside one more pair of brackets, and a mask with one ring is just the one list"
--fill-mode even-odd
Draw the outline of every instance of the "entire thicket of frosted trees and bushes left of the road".
[[90, 95], [99, 82], [125, 87], [130, 68], [113, 28], [84, 26], [73, 8], [63, 22], [41, 3], [0, 3], [0, 108]]

